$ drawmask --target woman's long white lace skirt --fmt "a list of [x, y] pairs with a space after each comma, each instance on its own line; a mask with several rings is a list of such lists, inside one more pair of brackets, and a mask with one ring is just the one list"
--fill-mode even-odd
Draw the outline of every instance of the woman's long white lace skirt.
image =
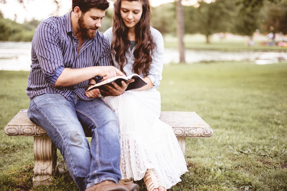
[[180, 182], [187, 166], [172, 127], [159, 120], [160, 93], [131, 90], [103, 100], [119, 118], [122, 179], [141, 180], [154, 169], [166, 189]]

